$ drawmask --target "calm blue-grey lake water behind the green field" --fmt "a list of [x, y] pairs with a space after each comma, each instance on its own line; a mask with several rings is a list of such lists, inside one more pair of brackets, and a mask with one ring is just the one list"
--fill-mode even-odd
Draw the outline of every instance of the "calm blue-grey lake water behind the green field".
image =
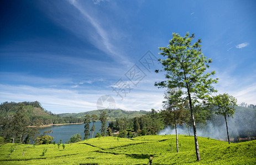
[[[106, 124], [106, 126], [108, 127], [108, 122]], [[53, 141], [59, 142], [60, 139], [62, 139], [62, 143], [65, 143], [66, 141], [70, 140], [72, 135], [75, 135], [77, 133], [81, 134], [82, 139], [85, 136], [85, 133], [83, 133], [83, 131], [85, 130], [85, 124], [71, 124], [71, 125], [59, 125], [59, 126], [52, 126], [52, 127], [43, 127], [43, 128], [38, 128], [40, 134], [43, 134], [44, 131], [47, 130], [53, 130], [53, 133], [48, 134], [52, 137], [54, 137]], [[92, 127], [92, 123], [90, 124], [90, 130]], [[95, 137], [95, 135], [97, 133], [100, 133], [100, 129], [101, 129], [101, 122], [98, 121], [95, 123], [95, 131], [93, 133], [93, 138]], [[92, 138], [92, 132], [90, 131], [90, 136], [89, 138]]]

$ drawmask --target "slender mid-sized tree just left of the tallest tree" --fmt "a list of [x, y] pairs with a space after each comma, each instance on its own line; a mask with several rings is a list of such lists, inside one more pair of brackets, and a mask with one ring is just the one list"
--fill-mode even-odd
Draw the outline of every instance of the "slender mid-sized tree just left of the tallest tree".
[[165, 93], [164, 108], [161, 110], [165, 123], [175, 125], [176, 150], [179, 152], [179, 143], [177, 135], [177, 124], [182, 124], [182, 113], [184, 100], [181, 98], [182, 91], [179, 89], [168, 89]]

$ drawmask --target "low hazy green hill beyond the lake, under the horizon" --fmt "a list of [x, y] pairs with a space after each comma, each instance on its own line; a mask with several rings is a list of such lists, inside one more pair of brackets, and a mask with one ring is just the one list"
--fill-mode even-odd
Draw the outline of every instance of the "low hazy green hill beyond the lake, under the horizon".
[[102, 111], [107, 112], [108, 120], [114, 120], [117, 118], [134, 118], [142, 116], [147, 111], [124, 111], [122, 109], [100, 109], [100, 110], [93, 110], [88, 112], [81, 112], [81, 113], [60, 113], [58, 114], [60, 117], [76, 117], [76, 118], [83, 118], [86, 114], [92, 115], [96, 114], [98, 117], [102, 113]]

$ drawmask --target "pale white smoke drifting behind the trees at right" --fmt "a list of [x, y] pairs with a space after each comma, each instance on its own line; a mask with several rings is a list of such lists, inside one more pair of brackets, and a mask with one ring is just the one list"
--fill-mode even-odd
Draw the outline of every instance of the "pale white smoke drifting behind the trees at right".
[[[229, 138], [248, 138], [256, 135], [256, 109], [247, 109], [247, 111], [236, 111], [234, 117], [227, 118]], [[217, 140], [227, 140], [226, 123], [223, 116], [214, 116], [207, 120], [205, 124], [196, 123], [197, 136], [212, 138]], [[186, 123], [177, 125], [178, 135], [193, 135], [192, 127], [186, 127]], [[158, 135], [175, 135], [174, 127], [166, 127], [160, 130]]]

